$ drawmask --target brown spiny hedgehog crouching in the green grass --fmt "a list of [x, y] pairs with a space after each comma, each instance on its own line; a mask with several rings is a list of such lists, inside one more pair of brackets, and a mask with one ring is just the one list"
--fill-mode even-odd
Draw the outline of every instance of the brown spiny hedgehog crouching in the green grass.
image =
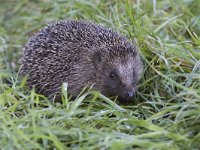
[[48, 98], [62, 83], [76, 97], [92, 86], [106, 96], [130, 99], [143, 71], [135, 42], [93, 22], [62, 20], [34, 34], [23, 48], [19, 74]]

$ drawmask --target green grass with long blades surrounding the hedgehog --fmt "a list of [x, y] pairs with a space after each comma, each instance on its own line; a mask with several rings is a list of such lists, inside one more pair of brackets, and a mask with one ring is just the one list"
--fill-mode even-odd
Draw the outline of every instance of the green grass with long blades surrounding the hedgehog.
[[[134, 105], [88, 93], [50, 103], [17, 77], [28, 38], [85, 19], [138, 39], [145, 71]], [[0, 149], [199, 149], [199, 0], [0, 0]]]

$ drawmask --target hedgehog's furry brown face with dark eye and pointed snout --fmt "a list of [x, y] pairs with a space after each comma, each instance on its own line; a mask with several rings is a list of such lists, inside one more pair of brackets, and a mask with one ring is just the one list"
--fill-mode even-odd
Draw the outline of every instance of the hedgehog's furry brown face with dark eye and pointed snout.
[[112, 61], [103, 62], [100, 66], [102, 75], [99, 80], [103, 94], [117, 95], [127, 100], [134, 96], [143, 70], [138, 54], [116, 57]]

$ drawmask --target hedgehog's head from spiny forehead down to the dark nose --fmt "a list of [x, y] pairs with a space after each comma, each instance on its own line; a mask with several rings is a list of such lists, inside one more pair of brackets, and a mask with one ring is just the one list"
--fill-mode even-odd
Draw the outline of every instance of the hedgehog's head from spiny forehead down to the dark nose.
[[108, 96], [133, 97], [143, 71], [140, 56], [133, 45], [114, 46], [113, 49], [104, 55], [97, 52], [96, 87]]

